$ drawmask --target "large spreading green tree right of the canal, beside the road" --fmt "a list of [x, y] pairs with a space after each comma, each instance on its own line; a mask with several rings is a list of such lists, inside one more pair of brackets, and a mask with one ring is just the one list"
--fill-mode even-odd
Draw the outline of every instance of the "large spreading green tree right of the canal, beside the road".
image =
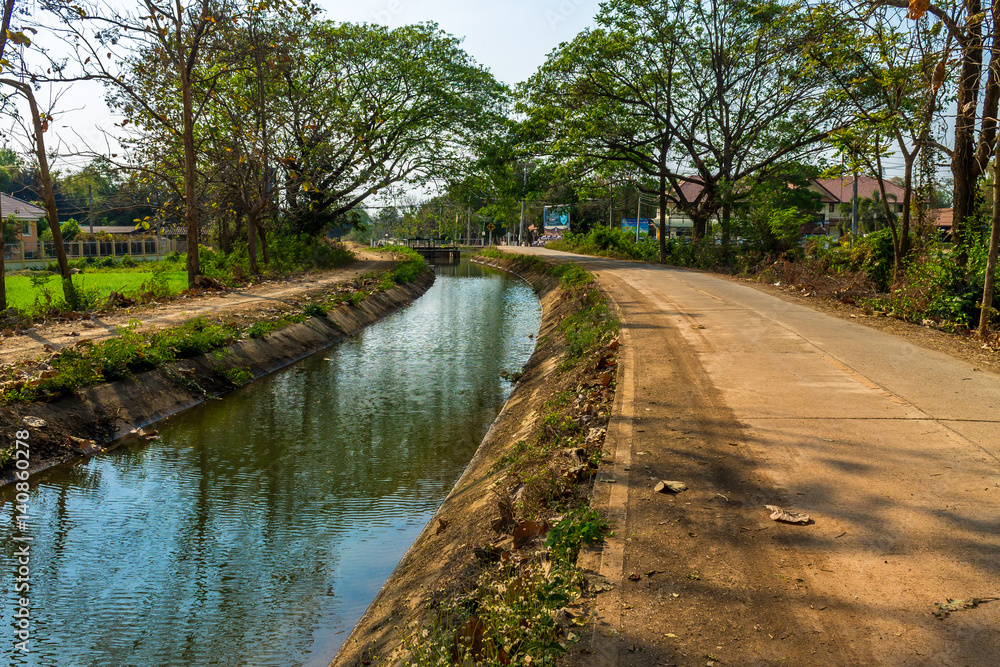
[[549, 153], [637, 169], [696, 239], [721, 212], [728, 240], [732, 207], [840, 126], [804, 56], [832, 26], [794, 3], [610, 0], [597, 25], [550, 55], [521, 109]]

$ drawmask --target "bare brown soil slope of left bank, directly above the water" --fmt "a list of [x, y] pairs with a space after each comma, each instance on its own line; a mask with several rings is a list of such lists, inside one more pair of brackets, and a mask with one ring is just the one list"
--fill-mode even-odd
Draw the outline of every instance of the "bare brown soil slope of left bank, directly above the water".
[[[226, 371], [249, 371], [254, 379], [318, 352], [410, 304], [434, 283], [430, 268], [413, 283], [368, 296], [358, 305], [344, 303], [325, 317], [312, 317], [260, 339], [233, 345], [133, 378], [97, 385], [52, 403], [15, 404], [0, 408], [0, 428], [13, 434], [30, 432], [35, 474], [77, 458], [125, 444], [134, 429], [217, 398], [232, 389]], [[46, 425], [32, 428], [30, 416]], [[139, 437], [139, 436], [136, 436]], [[13, 481], [14, 462], [0, 469], [0, 484]]]

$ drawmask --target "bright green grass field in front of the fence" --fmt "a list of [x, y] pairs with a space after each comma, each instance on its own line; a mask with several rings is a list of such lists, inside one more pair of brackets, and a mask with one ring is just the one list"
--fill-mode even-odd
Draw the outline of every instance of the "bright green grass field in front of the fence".
[[[187, 287], [187, 272], [168, 271], [164, 275], [171, 294], [176, 294]], [[78, 290], [87, 291], [97, 289], [100, 291], [100, 298], [104, 299], [112, 291], [124, 291], [128, 295], [143, 283], [151, 280], [152, 277], [153, 273], [151, 271], [136, 269], [118, 271], [88, 270], [85, 273], [73, 276], [73, 284]], [[44, 296], [45, 290], [48, 290], [52, 295], [53, 305], [63, 303], [62, 284], [59, 281], [59, 276], [49, 276], [48, 280], [40, 288], [33, 287], [31, 277], [25, 275], [7, 276], [6, 282], [7, 305], [10, 307], [19, 310], [31, 310], [35, 307], [36, 299], [40, 306], [45, 307], [48, 304]]]

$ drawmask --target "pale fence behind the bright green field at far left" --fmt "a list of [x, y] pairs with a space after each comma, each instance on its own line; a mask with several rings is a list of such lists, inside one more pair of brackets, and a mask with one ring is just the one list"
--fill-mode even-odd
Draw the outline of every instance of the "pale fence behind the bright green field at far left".
[[[63, 243], [69, 259], [131, 257], [137, 262], [152, 262], [180, 251], [178, 241], [164, 238], [114, 238], [110, 241], [69, 241]], [[182, 251], [181, 251], [182, 252]], [[54, 243], [7, 243], [3, 248], [8, 271], [43, 269], [55, 261]]]

